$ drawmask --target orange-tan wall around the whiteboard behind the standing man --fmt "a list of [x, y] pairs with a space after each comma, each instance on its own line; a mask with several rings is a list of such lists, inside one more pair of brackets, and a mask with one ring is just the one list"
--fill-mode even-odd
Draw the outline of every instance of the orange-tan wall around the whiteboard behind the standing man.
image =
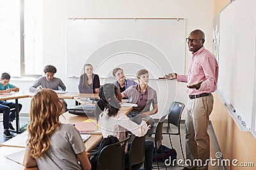
[[[214, 15], [229, 1], [215, 0]], [[221, 25], [220, 25], [221, 26]], [[256, 139], [250, 132], [240, 131], [230, 117], [218, 94], [214, 93], [214, 109], [211, 113], [211, 122], [224, 159], [237, 159], [240, 162], [253, 162], [254, 167], [227, 167], [233, 169], [255, 169], [256, 166]]]

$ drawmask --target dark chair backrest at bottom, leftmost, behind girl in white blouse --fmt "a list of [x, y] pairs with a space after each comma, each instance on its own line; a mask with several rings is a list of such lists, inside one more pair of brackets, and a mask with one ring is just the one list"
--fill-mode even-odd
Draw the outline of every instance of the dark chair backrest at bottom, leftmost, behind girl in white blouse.
[[128, 139], [104, 147], [99, 155], [97, 170], [124, 169], [125, 145]]

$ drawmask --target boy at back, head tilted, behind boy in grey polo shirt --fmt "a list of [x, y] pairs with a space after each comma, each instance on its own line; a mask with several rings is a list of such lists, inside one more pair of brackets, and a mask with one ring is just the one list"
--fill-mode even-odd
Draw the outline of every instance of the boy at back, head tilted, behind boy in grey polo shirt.
[[113, 76], [116, 80], [113, 82], [113, 84], [120, 89], [121, 93], [124, 92], [124, 90], [128, 89], [128, 87], [138, 84], [134, 80], [125, 79], [124, 71], [120, 67], [117, 67], [113, 70]]

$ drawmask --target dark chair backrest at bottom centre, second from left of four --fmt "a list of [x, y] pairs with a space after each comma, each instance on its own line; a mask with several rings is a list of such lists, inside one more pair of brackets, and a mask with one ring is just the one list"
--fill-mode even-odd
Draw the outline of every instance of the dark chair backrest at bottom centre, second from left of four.
[[140, 169], [145, 157], [145, 136], [136, 136], [131, 144], [129, 169]]

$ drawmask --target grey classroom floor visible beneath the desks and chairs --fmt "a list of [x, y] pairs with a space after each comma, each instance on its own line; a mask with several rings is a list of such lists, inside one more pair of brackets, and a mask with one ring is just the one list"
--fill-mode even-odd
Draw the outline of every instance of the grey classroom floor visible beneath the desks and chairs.
[[[22, 124], [26, 124], [28, 123], [29, 118], [28, 117], [20, 117], [20, 125]], [[0, 115], [0, 143], [3, 143], [4, 141], [7, 141], [10, 138], [5, 138], [3, 136], [3, 115]], [[13, 121], [13, 127], [15, 127], [15, 121]], [[184, 136], [184, 124], [181, 124], [180, 129], [182, 132], [182, 148], [183, 148], [183, 152], [185, 153], [185, 136]], [[17, 134], [11, 132], [13, 134], [13, 136], [16, 136]], [[211, 140], [211, 155], [210, 157], [212, 157], [212, 159], [216, 159], [216, 153], [219, 152], [219, 147], [218, 147], [218, 142], [216, 141], [216, 137], [214, 134], [214, 131], [212, 129], [211, 124], [209, 125], [209, 129], [208, 129], [208, 133], [210, 136], [210, 140]], [[182, 159], [182, 153], [180, 150], [180, 144], [179, 144], [179, 136], [172, 136], [172, 142], [173, 142], [173, 148], [175, 148], [175, 150], [177, 151], [177, 160]], [[170, 141], [167, 135], [164, 135], [164, 139], [163, 139], [163, 145], [168, 146], [170, 148]], [[185, 155], [186, 157], [186, 155]], [[183, 160], [183, 159], [182, 159]], [[160, 163], [163, 165], [163, 163]], [[153, 165], [156, 165], [156, 162], [153, 162]], [[156, 167], [157, 169], [157, 167]], [[162, 167], [161, 169], [165, 169], [165, 167]], [[182, 166], [180, 167], [168, 167], [167, 169], [172, 169], [172, 170], [178, 170], [178, 169], [182, 169]], [[209, 170], [223, 170], [224, 167], [221, 166], [209, 166]]]

